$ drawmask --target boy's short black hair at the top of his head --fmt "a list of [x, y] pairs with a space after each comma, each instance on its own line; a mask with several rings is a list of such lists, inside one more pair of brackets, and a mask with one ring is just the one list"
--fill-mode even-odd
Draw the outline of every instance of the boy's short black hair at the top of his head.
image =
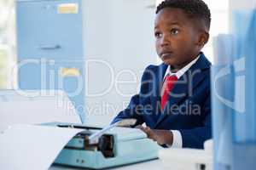
[[165, 0], [156, 8], [156, 14], [163, 8], [181, 8], [192, 17], [203, 20], [207, 29], [210, 29], [211, 12], [207, 4], [202, 0]]

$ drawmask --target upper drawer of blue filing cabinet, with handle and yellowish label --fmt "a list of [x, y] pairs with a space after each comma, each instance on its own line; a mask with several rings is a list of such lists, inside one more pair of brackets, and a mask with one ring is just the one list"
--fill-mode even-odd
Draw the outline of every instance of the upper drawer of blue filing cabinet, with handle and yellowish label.
[[81, 59], [84, 56], [81, 6], [81, 0], [18, 1], [19, 58]]

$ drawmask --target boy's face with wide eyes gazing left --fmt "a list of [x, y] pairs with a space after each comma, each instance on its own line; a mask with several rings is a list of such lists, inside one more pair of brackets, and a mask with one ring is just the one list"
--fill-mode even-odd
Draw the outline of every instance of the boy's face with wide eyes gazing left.
[[205, 42], [195, 23], [199, 22], [189, 18], [180, 8], [163, 8], [156, 15], [155, 47], [166, 65], [179, 70], [197, 57]]

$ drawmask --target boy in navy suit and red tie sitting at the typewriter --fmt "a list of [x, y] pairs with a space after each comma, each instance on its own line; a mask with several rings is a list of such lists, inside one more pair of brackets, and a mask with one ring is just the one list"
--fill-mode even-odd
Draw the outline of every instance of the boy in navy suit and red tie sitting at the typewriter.
[[201, 53], [210, 23], [210, 10], [202, 0], [160, 3], [154, 36], [163, 64], [146, 68], [139, 94], [113, 122], [136, 118], [136, 126], [158, 144], [203, 148], [212, 138], [211, 63]]

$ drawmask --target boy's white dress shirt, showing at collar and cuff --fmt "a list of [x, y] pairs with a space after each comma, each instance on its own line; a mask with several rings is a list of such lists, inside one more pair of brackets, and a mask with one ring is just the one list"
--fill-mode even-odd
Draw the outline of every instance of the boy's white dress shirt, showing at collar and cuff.
[[[177, 79], [179, 79], [180, 77], [183, 76], [183, 74], [189, 70], [189, 68], [195, 64], [195, 62], [197, 61], [197, 59], [199, 59], [200, 55], [192, 60], [188, 65], [185, 65], [181, 70], [177, 71], [177, 72], [172, 72], [171, 71], [171, 66], [169, 65], [167, 70], [166, 70], [166, 75], [164, 77], [164, 80], [166, 78], [167, 75], [170, 76], [176, 76]], [[173, 134], [173, 143], [172, 145], [167, 144], [168, 147], [172, 147], [172, 148], [182, 148], [183, 147], [183, 138], [181, 133], [178, 130], [171, 130], [172, 134]]]

